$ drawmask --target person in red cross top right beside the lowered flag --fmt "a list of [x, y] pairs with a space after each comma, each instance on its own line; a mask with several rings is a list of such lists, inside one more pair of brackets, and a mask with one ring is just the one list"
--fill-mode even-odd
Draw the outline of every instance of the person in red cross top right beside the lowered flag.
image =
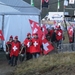
[[42, 42], [38, 38], [38, 34], [37, 33], [33, 34], [32, 48], [30, 50], [32, 54], [32, 58], [38, 58], [40, 56], [41, 46], [42, 46]]

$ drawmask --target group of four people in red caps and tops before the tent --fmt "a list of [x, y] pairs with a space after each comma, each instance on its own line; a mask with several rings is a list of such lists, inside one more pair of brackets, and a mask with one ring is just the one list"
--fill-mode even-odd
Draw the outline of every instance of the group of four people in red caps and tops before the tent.
[[22, 44], [18, 40], [18, 36], [15, 36], [14, 39], [10, 36], [9, 41], [6, 43], [6, 52], [9, 64], [15, 66], [20, 54], [26, 54], [26, 60], [38, 58], [42, 52], [42, 42], [37, 33], [33, 34], [33, 38], [28, 33]]

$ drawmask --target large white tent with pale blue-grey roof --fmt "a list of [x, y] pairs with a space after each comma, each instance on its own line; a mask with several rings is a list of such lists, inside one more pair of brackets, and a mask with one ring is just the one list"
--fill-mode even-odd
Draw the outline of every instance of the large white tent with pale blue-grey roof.
[[23, 42], [27, 33], [31, 32], [29, 19], [39, 22], [39, 16], [40, 10], [23, 0], [0, 0], [0, 29], [5, 41], [10, 35], [17, 35]]

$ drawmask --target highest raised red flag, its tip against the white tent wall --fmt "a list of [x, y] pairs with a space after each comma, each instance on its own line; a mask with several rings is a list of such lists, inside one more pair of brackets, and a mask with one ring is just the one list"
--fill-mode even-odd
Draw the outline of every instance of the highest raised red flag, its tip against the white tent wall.
[[29, 22], [31, 25], [32, 34], [37, 33], [39, 38], [42, 38], [42, 31], [41, 31], [41, 27], [40, 27], [39, 23], [37, 23], [33, 20], [29, 20]]

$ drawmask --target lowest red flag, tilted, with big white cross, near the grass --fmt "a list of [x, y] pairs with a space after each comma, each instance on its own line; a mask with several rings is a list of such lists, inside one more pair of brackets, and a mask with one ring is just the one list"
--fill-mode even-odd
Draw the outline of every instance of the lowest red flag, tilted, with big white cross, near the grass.
[[42, 44], [43, 44], [43, 48], [44, 48], [43, 53], [45, 55], [47, 55], [48, 53], [50, 53], [54, 49], [52, 44], [49, 41], [47, 41], [46, 39], [42, 40]]

